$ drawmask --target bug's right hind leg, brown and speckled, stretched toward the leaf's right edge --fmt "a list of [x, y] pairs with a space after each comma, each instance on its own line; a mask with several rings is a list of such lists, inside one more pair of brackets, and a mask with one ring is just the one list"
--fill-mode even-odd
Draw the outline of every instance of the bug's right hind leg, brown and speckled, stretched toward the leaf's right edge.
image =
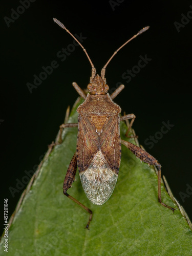
[[141, 161], [148, 163], [148, 165], [156, 165], [158, 168], [158, 200], [159, 203], [162, 204], [163, 206], [171, 209], [171, 210], [175, 210], [174, 208], [164, 204], [161, 201], [161, 165], [160, 163], [155, 159], [155, 157], [153, 157], [152, 155], [148, 154], [146, 151], [142, 150], [142, 148], [128, 142], [128, 141], [124, 141], [121, 140], [121, 143], [126, 146], [127, 148], [129, 148], [129, 150], [136, 156], [138, 157]]

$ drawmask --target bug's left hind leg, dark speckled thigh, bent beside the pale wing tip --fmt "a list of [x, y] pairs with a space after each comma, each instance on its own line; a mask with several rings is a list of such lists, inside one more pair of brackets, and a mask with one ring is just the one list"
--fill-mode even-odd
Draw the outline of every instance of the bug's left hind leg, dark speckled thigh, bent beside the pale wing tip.
[[65, 177], [65, 180], [63, 182], [63, 194], [65, 196], [67, 196], [68, 198], [70, 198], [71, 200], [73, 200], [75, 203], [77, 203], [78, 205], [80, 205], [83, 209], [85, 209], [87, 212], [89, 212], [90, 214], [90, 218], [89, 218], [89, 221], [88, 221], [88, 224], [86, 226], [86, 228], [89, 229], [89, 224], [90, 224], [90, 221], [92, 220], [92, 210], [90, 210], [88, 207], [84, 206], [83, 204], [81, 204], [79, 201], [77, 201], [75, 198], [73, 198], [72, 196], [70, 196], [68, 193], [67, 193], [67, 190], [71, 187], [72, 183], [74, 182], [75, 180], [75, 174], [76, 174], [76, 171], [77, 171], [77, 156], [76, 156], [76, 153], [74, 154], [73, 158], [71, 159], [71, 162], [70, 162], [70, 165], [68, 167], [68, 170], [67, 170], [67, 174], [66, 174], [66, 177]]

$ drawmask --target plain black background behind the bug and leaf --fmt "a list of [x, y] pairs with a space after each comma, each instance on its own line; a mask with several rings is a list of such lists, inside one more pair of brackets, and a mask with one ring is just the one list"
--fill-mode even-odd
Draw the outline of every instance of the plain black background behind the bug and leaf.
[[[192, 219], [192, 190], [186, 191], [187, 184], [192, 186], [192, 20], [185, 20], [180, 32], [174, 25], [181, 23], [182, 13], [192, 11], [192, 2], [118, 2], [112, 8], [115, 1], [36, 0], [9, 28], [4, 17], [11, 18], [11, 9], [17, 10], [21, 4], [2, 4], [0, 120], [4, 121], [0, 122], [0, 202], [3, 207], [3, 199], [8, 198], [9, 217], [24, 190], [19, 189], [13, 198], [10, 187], [16, 188], [17, 181], [26, 176], [25, 170], [34, 172], [39, 158], [55, 139], [67, 106], [72, 106], [78, 96], [72, 82], [86, 88], [91, 76], [90, 63], [80, 47], [65, 61], [57, 57], [73, 38], [53, 22], [55, 17], [73, 34], [87, 37], [82, 44], [99, 74], [118, 47], [141, 28], [151, 27], [114, 57], [106, 69], [106, 81], [110, 88], [115, 88], [117, 82], [125, 85], [115, 102], [122, 111], [136, 115], [134, 129], [140, 143], [161, 163], [174, 196]], [[152, 60], [127, 83], [122, 74], [138, 65], [139, 56], [145, 54]], [[59, 67], [30, 93], [26, 83], [33, 83], [33, 75], [39, 76], [42, 66], [50, 66], [53, 60]], [[146, 145], [145, 140], [155, 136], [162, 122], [168, 120], [174, 127], [152, 148]], [[188, 193], [184, 200], [181, 192]], [[3, 221], [3, 213], [1, 216]]]

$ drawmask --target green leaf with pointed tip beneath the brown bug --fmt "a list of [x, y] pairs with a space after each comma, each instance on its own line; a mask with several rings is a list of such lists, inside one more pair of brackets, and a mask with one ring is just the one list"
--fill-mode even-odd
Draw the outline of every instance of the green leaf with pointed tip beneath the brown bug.
[[[77, 101], [69, 122], [77, 122]], [[126, 132], [121, 124], [121, 137]], [[67, 168], [76, 150], [77, 129], [63, 132], [63, 143], [49, 150], [28, 185], [9, 228], [6, 255], [191, 255], [192, 231], [162, 184], [158, 203], [157, 175], [153, 167], [122, 145], [118, 181], [111, 198], [93, 205], [83, 192], [79, 175], [68, 193], [93, 210], [89, 214], [62, 194]], [[133, 139], [130, 142], [135, 143]], [[50, 153], [51, 152], [51, 153]], [[0, 255], [5, 255], [1, 242]]]

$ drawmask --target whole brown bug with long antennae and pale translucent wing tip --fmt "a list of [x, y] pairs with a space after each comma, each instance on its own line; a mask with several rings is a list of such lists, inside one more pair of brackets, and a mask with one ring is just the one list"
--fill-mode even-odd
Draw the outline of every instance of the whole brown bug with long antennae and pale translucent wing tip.
[[150, 154], [142, 150], [140, 147], [121, 140], [119, 131], [119, 122], [126, 119], [132, 119], [129, 130], [135, 120], [134, 114], [119, 116], [121, 112], [120, 106], [113, 102], [113, 99], [123, 90], [121, 84], [119, 88], [110, 96], [108, 93], [109, 86], [106, 84], [105, 69], [111, 59], [117, 52], [124, 47], [128, 42], [145, 32], [149, 27], [141, 29], [131, 39], [127, 40], [119, 49], [117, 49], [111, 58], [106, 62], [101, 70], [101, 76], [96, 74], [96, 69], [83, 46], [75, 38], [75, 36], [56, 18], [53, 19], [61, 28], [65, 29], [82, 47], [86, 53], [91, 66], [92, 75], [87, 88], [89, 93], [84, 94], [76, 82], [73, 86], [78, 94], [84, 99], [84, 102], [77, 108], [78, 123], [67, 123], [60, 125], [60, 140], [62, 130], [66, 127], [78, 127], [77, 149], [74, 154], [65, 180], [63, 182], [63, 194], [76, 202], [83, 209], [89, 212], [90, 218], [86, 228], [89, 229], [92, 220], [92, 210], [81, 204], [75, 198], [67, 193], [75, 180], [76, 170], [78, 166], [79, 176], [89, 200], [96, 205], [104, 204], [112, 195], [117, 182], [120, 159], [121, 159], [121, 144], [125, 145], [136, 157], [148, 165], [155, 165], [158, 168], [158, 200], [163, 206], [175, 210], [174, 208], [164, 204], [161, 201], [161, 165]]

